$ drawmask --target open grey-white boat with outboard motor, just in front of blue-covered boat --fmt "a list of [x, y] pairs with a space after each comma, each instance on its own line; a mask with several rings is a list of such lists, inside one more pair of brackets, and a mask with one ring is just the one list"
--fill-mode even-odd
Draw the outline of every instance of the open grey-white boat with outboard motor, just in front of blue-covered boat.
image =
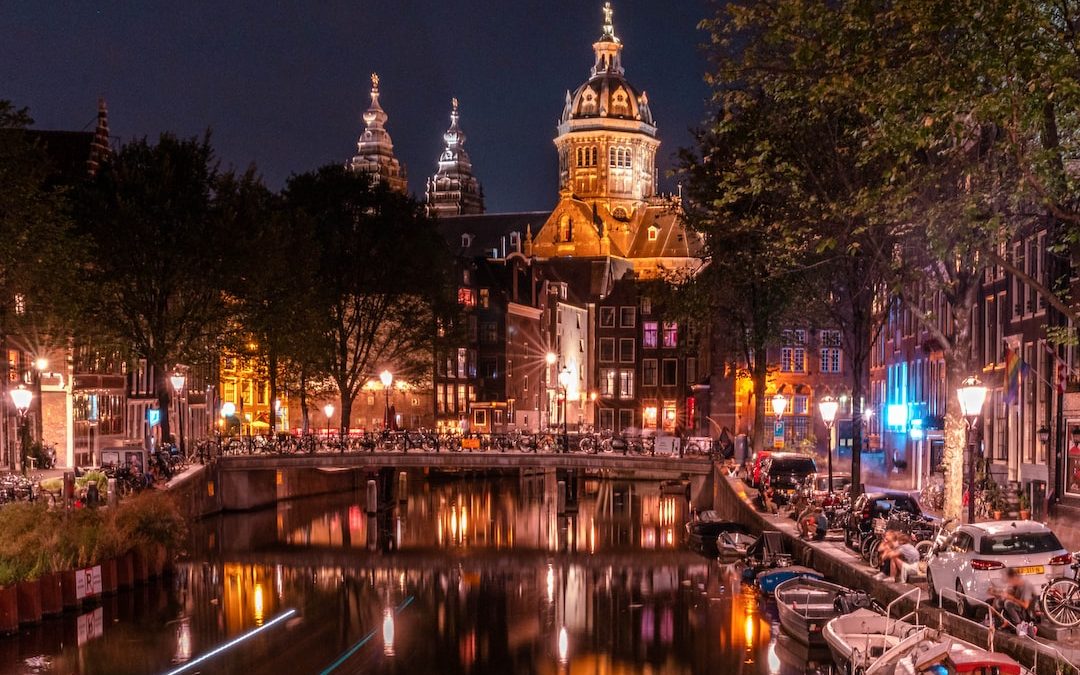
[[780, 625], [804, 645], [823, 645], [822, 629], [832, 619], [874, 600], [862, 591], [852, 591], [823, 579], [802, 576], [777, 585], [777, 611]]

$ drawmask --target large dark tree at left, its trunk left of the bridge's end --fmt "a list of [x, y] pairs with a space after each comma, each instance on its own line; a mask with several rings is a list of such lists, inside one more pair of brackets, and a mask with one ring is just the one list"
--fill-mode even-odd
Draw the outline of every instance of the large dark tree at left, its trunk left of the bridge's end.
[[80, 195], [85, 283], [96, 289], [87, 313], [152, 366], [162, 410], [171, 368], [205, 360], [232, 325], [225, 292], [243, 232], [217, 201], [222, 179], [208, 137], [163, 134], [123, 146]]

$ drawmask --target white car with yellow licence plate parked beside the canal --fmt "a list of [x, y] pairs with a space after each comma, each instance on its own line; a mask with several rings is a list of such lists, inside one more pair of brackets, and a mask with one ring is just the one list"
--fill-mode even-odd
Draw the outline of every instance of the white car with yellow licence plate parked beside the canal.
[[1054, 567], [1068, 565], [1070, 559], [1054, 532], [1041, 523], [961, 525], [927, 562], [927, 584], [934, 604], [942, 596], [956, 603], [957, 613], [971, 617], [978, 603], [968, 598], [985, 602], [991, 588], [1004, 588], [1008, 568], [1015, 568], [1031, 582], [1038, 599], [1042, 586], [1062, 571]]

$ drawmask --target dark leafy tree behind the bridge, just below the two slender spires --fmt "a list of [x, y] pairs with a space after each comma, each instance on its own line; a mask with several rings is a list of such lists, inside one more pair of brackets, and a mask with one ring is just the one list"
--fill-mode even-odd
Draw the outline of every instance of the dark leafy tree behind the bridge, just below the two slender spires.
[[340, 395], [341, 433], [361, 388], [387, 366], [430, 370], [436, 319], [451, 306], [451, 258], [413, 199], [330, 165], [293, 176], [291, 218], [311, 221], [311, 302], [325, 326], [325, 368]]

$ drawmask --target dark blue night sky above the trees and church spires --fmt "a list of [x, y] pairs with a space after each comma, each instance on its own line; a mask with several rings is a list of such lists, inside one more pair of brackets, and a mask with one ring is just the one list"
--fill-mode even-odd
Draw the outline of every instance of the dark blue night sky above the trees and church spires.
[[[120, 141], [211, 129], [224, 165], [254, 162], [280, 188], [354, 154], [375, 71], [414, 193], [435, 171], [457, 96], [488, 213], [550, 208], [555, 124], [566, 90], [589, 76], [602, 5], [0, 0], [0, 98], [28, 106], [38, 129], [91, 130], [104, 95]], [[704, 116], [706, 0], [612, 6], [626, 78], [648, 92], [660, 129], [663, 175]]]

